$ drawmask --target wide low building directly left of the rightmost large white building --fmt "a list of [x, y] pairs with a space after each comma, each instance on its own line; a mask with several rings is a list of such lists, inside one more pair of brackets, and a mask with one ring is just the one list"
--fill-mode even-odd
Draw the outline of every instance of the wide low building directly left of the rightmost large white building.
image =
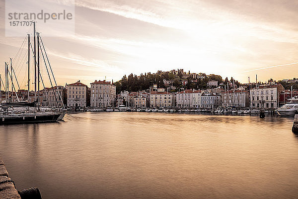
[[249, 107], [249, 93], [241, 90], [223, 92], [222, 105], [224, 107]]

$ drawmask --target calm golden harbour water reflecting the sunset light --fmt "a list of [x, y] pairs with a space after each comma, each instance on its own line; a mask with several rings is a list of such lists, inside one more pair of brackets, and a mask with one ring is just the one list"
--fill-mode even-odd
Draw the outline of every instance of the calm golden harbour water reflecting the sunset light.
[[18, 189], [43, 199], [294, 199], [292, 118], [100, 112], [0, 126]]

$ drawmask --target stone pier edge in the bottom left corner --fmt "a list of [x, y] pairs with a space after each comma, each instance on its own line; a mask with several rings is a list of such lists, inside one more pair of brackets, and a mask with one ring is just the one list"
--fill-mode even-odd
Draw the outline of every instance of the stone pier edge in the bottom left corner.
[[0, 157], [0, 199], [21, 199]]

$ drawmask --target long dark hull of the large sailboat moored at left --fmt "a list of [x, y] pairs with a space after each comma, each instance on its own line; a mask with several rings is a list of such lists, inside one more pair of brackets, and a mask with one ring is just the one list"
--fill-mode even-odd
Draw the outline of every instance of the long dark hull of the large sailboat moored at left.
[[55, 122], [61, 113], [0, 115], [0, 125]]

